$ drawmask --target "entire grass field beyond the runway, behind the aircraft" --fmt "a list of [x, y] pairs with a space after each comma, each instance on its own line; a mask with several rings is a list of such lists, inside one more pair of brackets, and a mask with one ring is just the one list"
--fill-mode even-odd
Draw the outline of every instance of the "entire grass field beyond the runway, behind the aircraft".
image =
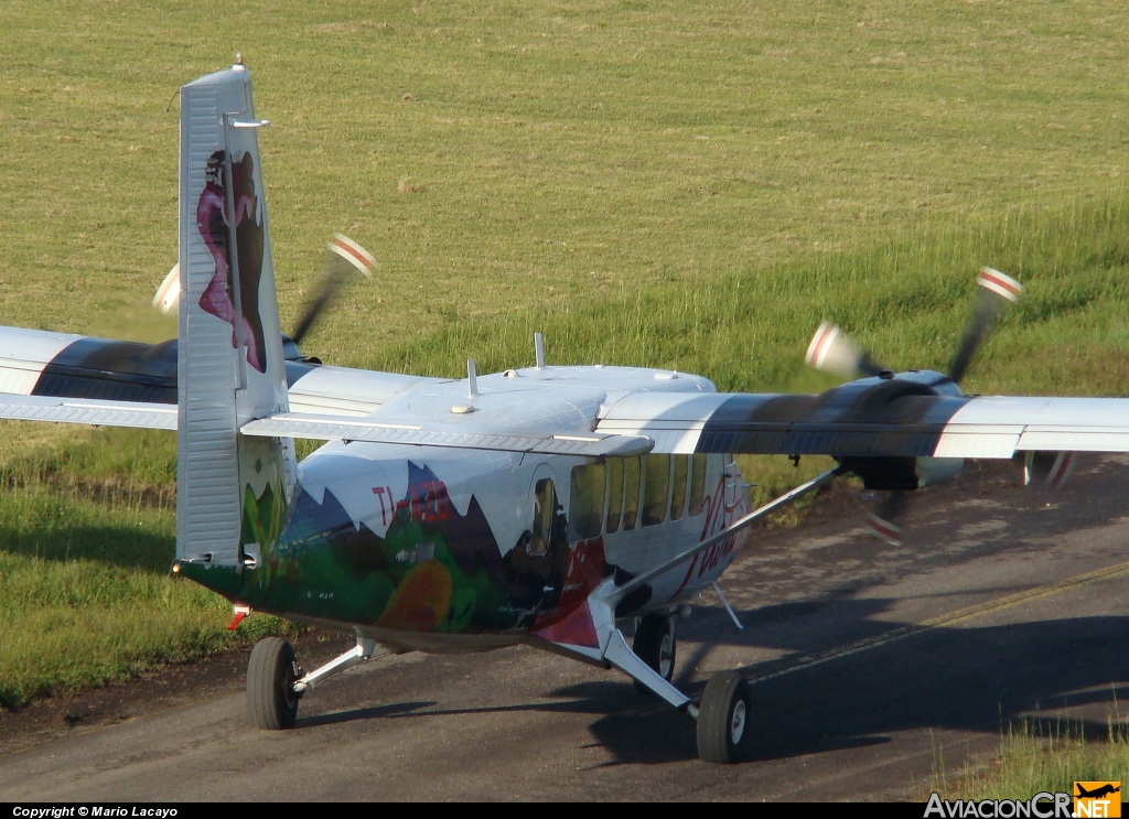
[[[0, 25], [0, 324], [175, 332], [146, 306], [176, 257], [173, 95], [242, 51], [283, 323], [331, 232], [380, 261], [309, 336], [326, 361], [487, 371], [540, 329], [551, 361], [813, 390], [823, 318], [943, 368], [991, 264], [1029, 298], [970, 389], [1126, 389], [1113, 0], [9, 0]], [[227, 609], [165, 576], [168, 438], [0, 441], [0, 701], [225, 644]]]

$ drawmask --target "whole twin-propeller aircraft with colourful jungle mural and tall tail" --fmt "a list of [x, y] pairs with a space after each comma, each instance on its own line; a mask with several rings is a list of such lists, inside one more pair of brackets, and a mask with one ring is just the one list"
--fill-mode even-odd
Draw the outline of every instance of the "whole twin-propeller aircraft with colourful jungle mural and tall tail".
[[[947, 376], [881, 369], [824, 326], [809, 362], [866, 377], [820, 396], [549, 367], [540, 337], [535, 367], [476, 377], [469, 362], [466, 380], [318, 366], [279, 326], [266, 124], [243, 64], [181, 90], [175, 342], [0, 328], [0, 417], [176, 430], [175, 572], [230, 599], [237, 619], [254, 608], [356, 633], [310, 672], [289, 643], [261, 641], [247, 671], [260, 728], [291, 726], [310, 688], [378, 649], [525, 643], [620, 669], [697, 720], [703, 759], [733, 761], [749, 733], [745, 680], [717, 673], [700, 702], [673, 686], [674, 618], [750, 523], [847, 472], [896, 496], [963, 458], [1024, 452], [1029, 467], [1056, 461], [1058, 479], [1061, 453], [1129, 451], [1129, 400], [962, 395], [995, 309], [1019, 292], [987, 268]], [[331, 249], [371, 267], [343, 237]], [[329, 443], [299, 464], [296, 438]], [[839, 466], [750, 510], [738, 452]]]

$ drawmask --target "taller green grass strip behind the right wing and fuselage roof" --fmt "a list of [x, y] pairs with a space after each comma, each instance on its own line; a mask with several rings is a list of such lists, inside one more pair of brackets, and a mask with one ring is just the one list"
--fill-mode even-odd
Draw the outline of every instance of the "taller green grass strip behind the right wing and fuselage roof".
[[[1016, 208], [996, 220], [938, 220], [866, 248], [807, 253], [744, 273], [623, 285], [612, 296], [548, 298], [539, 309], [444, 322], [377, 350], [366, 364], [457, 377], [528, 363], [545, 333], [551, 361], [667, 367], [720, 389], [820, 389], [803, 367], [823, 319], [892, 368], [944, 370], [982, 265], [1026, 294], [1004, 316], [970, 376], [975, 391], [1120, 395], [1129, 376], [1129, 196]], [[1070, 347], [1068, 356], [1061, 355]]]

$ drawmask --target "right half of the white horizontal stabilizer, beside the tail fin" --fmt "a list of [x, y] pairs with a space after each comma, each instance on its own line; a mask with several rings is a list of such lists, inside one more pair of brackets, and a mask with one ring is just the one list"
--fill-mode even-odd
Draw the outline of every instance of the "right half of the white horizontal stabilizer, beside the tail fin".
[[408, 424], [386, 424], [367, 419], [279, 413], [251, 421], [239, 430], [245, 435], [266, 438], [310, 438], [322, 441], [369, 441], [404, 443], [417, 447], [492, 449], [507, 452], [540, 452], [592, 458], [629, 457], [649, 452], [653, 442], [641, 435], [599, 433], [558, 433], [554, 435], [507, 435], [492, 432], [426, 430]]

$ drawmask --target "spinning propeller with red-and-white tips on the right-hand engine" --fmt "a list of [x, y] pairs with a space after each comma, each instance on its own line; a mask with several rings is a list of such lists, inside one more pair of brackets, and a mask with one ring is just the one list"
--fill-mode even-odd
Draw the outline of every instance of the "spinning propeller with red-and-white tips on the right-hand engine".
[[[969, 363], [996, 318], [1005, 307], [1017, 302], [1023, 293], [1023, 285], [991, 267], [980, 268], [977, 284], [980, 285], [977, 306], [969, 317], [964, 336], [961, 338], [961, 344], [946, 373], [947, 381], [952, 385], [951, 389], [955, 389], [957, 394], [960, 394], [957, 385], [964, 378]], [[816, 370], [832, 372], [847, 379], [873, 378], [875, 376], [890, 379], [893, 377], [893, 373], [877, 363], [861, 344], [830, 322], [820, 325], [812, 337], [804, 360]], [[944, 387], [944, 382], [940, 386]], [[920, 467], [922, 461], [927, 465], [938, 464], [935, 459], [919, 458], [917, 465]], [[944, 472], [944, 465], [940, 466]], [[867, 523], [875, 537], [895, 546], [901, 543], [902, 530], [893, 521], [903, 511], [905, 500], [904, 490], [890, 490], [878, 503], [877, 509], [867, 514]]]

